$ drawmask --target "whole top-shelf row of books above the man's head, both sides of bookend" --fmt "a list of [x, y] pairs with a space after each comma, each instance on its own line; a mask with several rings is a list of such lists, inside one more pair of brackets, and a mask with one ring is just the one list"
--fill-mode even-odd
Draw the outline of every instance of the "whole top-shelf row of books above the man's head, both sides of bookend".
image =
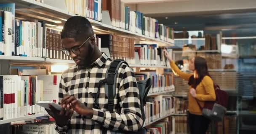
[[112, 26], [134, 33], [171, 42], [173, 28], [158, 24], [154, 18], [146, 17], [139, 11], [131, 11], [121, 0], [65, 0], [70, 13], [82, 15], [96, 21], [102, 20], [102, 11], [108, 11]]

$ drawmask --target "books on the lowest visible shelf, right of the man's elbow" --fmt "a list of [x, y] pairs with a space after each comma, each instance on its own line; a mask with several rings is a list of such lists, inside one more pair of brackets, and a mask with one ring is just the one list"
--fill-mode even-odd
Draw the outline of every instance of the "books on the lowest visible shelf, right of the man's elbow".
[[169, 116], [148, 128], [147, 134], [175, 134], [174, 133], [175, 119]]

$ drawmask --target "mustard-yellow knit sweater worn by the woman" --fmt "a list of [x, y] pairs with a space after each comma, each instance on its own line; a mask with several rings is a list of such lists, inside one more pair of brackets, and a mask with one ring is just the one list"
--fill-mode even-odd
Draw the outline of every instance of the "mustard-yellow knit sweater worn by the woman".
[[[173, 70], [173, 73], [184, 80], [189, 80], [189, 77], [191, 77], [193, 74], [188, 74], [185, 72], [182, 72], [179, 70], [179, 68], [176, 66], [176, 64], [171, 61], [170, 62], [171, 68]], [[192, 87], [189, 86], [189, 90]], [[200, 107], [198, 106], [197, 101], [199, 102], [200, 106], [204, 106], [204, 101], [215, 101], [216, 100], [216, 95], [213, 87], [213, 80], [209, 76], [205, 76], [203, 80], [197, 85], [196, 90], [196, 98], [192, 97], [192, 95], [188, 92], [188, 101], [189, 101], [189, 106], [188, 110], [189, 113], [196, 114], [196, 115], [202, 115], [202, 111]]]

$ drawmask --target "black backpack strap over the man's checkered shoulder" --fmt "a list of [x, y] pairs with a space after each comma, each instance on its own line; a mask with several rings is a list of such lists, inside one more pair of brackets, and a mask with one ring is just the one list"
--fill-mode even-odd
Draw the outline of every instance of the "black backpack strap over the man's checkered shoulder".
[[[119, 70], [119, 67], [121, 66], [121, 64], [127, 64], [127, 62], [125, 62], [122, 59], [116, 59], [113, 60], [111, 62], [111, 64], [109, 65], [109, 68], [107, 70], [106, 73], [106, 79], [107, 82], [104, 85], [105, 87], [105, 94], [108, 98], [108, 111], [113, 112], [114, 109], [114, 98], [115, 98], [115, 92], [116, 92], [116, 81], [117, 81], [117, 73]], [[127, 66], [129, 66], [127, 64]]]

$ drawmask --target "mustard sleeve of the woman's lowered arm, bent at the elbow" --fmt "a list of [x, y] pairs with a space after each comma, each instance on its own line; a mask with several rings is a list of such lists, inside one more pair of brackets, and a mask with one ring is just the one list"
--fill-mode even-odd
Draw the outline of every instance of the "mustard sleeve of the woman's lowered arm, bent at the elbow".
[[213, 80], [209, 76], [205, 76], [202, 80], [206, 94], [197, 94], [196, 98], [199, 101], [215, 101], [216, 94], [213, 87]]

